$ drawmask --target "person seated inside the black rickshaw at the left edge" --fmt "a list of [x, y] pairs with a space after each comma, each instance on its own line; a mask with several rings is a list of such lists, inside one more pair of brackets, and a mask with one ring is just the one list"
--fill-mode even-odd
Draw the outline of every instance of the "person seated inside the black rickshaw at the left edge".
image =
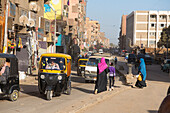
[[0, 71], [0, 82], [6, 81], [6, 77], [10, 72], [10, 59], [6, 58], [6, 62]]

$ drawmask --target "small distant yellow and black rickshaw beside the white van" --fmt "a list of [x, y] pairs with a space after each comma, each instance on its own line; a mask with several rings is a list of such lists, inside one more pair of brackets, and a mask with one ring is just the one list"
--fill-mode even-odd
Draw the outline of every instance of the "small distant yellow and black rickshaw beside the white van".
[[84, 76], [85, 75], [85, 67], [88, 59], [87, 58], [80, 58], [78, 59], [77, 64], [77, 75], [78, 76]]

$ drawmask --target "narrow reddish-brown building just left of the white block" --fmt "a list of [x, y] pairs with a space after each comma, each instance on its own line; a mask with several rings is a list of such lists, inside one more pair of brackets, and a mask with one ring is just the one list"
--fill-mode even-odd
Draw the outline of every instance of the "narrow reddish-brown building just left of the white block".
[[121, 50], [126, 48], [126, 17], [127, 15], [122, 15], [121, 27], [119, 33], [119, 48]]

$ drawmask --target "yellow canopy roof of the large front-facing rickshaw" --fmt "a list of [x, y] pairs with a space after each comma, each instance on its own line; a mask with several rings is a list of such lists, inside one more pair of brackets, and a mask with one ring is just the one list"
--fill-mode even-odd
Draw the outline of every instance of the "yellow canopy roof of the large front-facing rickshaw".
[[63, 54], [63, 53], [45, 53], [45, 54], [42, 54], [41, 57], [64, 57], [67, 59], [71, 59], [70, 55]]

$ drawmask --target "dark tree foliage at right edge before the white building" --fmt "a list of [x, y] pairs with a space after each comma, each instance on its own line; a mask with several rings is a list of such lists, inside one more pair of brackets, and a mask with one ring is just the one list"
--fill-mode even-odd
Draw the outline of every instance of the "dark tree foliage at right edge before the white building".
[[170, 48], [170, 26], [168, 28], [162, 29], [161, 38], [157, 44], [159, 48], [162, 46], [165, 46], [167, 48], [167, 43], [168, 48]]

